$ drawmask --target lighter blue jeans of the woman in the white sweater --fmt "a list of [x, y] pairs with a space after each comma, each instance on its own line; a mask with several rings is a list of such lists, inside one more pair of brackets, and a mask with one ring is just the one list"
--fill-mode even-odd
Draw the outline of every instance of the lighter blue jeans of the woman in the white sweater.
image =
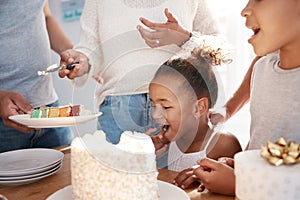
[[106, 133], [107, 141], [116, 144], [124, 131], [144, 133], [156, 127], [151, 116], [149, 95], [107, 96], [99, 108], [98, 129]]

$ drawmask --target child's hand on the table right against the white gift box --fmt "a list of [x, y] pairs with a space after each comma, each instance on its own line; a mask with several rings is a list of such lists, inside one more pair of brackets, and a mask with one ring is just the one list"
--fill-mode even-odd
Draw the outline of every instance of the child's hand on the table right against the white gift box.
[[[201, 166], [194, 170], [194, 175], [211, 192], [234, 195], [235, 194], [235, 176], [233, 168], [227, 164], [205, 158], [198, 161]], [[199, 191], [203, 191], [199, 188]]]

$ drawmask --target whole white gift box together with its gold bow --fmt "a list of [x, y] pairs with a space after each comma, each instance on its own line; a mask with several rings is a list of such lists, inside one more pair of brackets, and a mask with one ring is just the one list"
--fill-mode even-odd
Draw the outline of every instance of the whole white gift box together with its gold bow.
[[279, 138], [261, 150], [237, 153], [234, 173], [238, 199], [299, 200], [299, 150], [299, 144]]

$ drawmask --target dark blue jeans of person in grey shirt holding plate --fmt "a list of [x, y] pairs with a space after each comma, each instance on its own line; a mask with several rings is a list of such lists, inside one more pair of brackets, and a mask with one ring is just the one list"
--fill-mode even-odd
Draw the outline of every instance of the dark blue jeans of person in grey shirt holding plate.
[[[47, 106], [57, 107], [58, 101]], [[7, 127], [0, 118], [0, 153], [25, 148], [53, 148], [70, 145], [74, 138], [73, 132], [68, 127], [43, 128], [30, 133], [23, 133]]]

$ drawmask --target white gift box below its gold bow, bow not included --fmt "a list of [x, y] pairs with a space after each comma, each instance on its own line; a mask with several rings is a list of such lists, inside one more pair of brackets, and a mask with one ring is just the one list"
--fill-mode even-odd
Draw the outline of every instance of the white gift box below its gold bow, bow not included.
[[299, 200], [300, 163], [273, 166], [260, 150], [234, 156], [236, 196], [239, 200]]

